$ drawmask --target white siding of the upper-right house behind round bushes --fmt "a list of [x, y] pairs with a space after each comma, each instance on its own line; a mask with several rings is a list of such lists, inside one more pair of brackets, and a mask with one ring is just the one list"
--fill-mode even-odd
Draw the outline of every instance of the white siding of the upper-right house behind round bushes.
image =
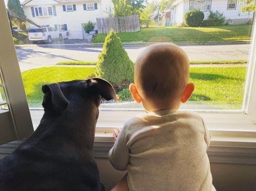
[[[253, 12], [242, 12], [239, 1], [236, 2], [236, 9], [227, 9], [228, 0], [212, 0], [211, 11], [221, 12], [230, 24], [245, 24], [249, 19], [253, 19]], [[171, 5], [171, 25], [178, 25], [184, 22], [184, 15], [189, 11], [189, 0], [177, 0]], [[210, 11], [203, 11], [205, 18], [210, 15]]]

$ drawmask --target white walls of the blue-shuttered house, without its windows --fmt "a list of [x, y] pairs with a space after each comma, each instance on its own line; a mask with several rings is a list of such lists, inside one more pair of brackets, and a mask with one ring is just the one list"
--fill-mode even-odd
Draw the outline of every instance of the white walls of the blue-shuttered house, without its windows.
[[[44, 2], [40, 0], [33, 0], [31, 1], [31, 3], [28, 3], [24, 7], [25, 15], [27, 16], [27, 18], [33, 20], [33, 22], [39, 25], [49, 24], [51, 27], [54, 27], [55, 24], [67, 24], [68, 30], [70, 31], [70, 36], [68, 38], [70, 39], [83, 39], [82, 24], [85, 24], [89, 21], [96, 23], [96, 18], [108, 17], [110, 15], [109, 11], [103, 10], [104, 7], [99, 1], [92, 2], [98, 4], [98, 10], [83, 10], [83, 2], [81, 2], [75, 3], [76, 11], [73, 12], [64, 12], [62, 4], [56, 4], [54, 2], [56, 1], [45, 0]], [[33, 17], [31, 13], [31, 7], [35, 5], [42, 5], [42, 3], [49, 6], [55, 5], [57, 16]], [[104, 2], [104, 6], [105, 5], [107, 5], [107, 7], [109, 8], [113, 5], [113, 3], [107, 4], [106, 2]], [[27, 27], [33, 26], [27, 23]]]

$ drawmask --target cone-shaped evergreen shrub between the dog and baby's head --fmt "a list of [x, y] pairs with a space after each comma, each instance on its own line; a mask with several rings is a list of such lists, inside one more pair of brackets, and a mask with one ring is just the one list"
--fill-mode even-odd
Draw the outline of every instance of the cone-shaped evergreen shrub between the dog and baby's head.
[[127, 88], [133, 81], [134, 65], [113, 29], [106, 35], [102, 53], [98, 58], [96, 77], [111, 82], [117, 92]]

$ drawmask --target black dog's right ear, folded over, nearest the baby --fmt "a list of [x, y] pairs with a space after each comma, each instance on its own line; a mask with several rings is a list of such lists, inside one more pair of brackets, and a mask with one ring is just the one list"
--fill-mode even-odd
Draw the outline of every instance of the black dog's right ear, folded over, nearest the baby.
[[109, 82], [98, 77], [91, 78], [90, 80], [89, 87], [95, 88], [96, 92], [104, 99], [107, 101], [115, 99], [115, 90]]

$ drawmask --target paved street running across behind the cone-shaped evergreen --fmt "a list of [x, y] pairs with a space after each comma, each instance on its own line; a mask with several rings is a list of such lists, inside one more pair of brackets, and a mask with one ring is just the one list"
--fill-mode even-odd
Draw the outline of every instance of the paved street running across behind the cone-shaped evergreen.
[[[247, 59], [250, 45], [203, 45], [180, 46], [190, 60], [238, 60]], [[126, 46], [126, 52], [135, 61], [143, 46]], [[86, 45], [27, 45], [16, 48], [21, 71], [55, 65], [65, 60], [98, 60], [102, 48], [91, 48]]]

